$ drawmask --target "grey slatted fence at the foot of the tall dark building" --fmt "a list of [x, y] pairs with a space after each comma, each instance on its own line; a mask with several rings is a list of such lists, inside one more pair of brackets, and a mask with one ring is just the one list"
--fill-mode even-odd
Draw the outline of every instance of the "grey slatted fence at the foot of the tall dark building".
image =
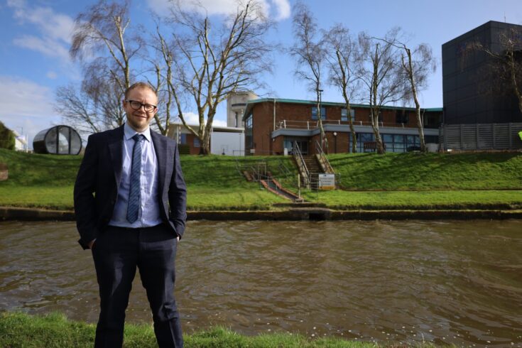
[[445, 150], [516, 150], [522, 149], [519, 131], [522, 123], [443, 124], [439, 144]]

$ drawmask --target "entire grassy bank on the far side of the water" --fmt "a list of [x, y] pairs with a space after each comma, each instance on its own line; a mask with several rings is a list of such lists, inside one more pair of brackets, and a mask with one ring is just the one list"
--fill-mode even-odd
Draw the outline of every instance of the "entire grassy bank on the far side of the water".
[[[522, 206], [522, 153], [374, 153], [330, 155], [342, 190], [303, 196], [335, 209], [503, 209]], [[0, 205], [72, 209], [79, 156], [0, 149], [9, 180], [0, 182]], [[239, 161], [239, 162], [238, 162]], [[181, 156], [189, 210], [270, 210], [288, 202], [249, 183], [245, 168], [263, 168], [297, 192], [290, 157]], [[239, 166], [238, 166], [239, 165]]]

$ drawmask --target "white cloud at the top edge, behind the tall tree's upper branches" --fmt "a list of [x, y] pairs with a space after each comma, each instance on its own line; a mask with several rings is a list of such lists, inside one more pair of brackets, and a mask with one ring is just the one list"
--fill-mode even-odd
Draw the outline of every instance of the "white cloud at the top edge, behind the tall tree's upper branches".
[[[165, 14], [170, 13], [170, 0], [147, 0], [148, 6], [156, 11], [156, 13]], [[201, 12], [206, 12], [209, 16], [214, 14], [229, 14], [234, 13], [237, 9], [237, 5], [240, 4], [240, 0], [181, 0], [180, 4], [183, 9], [197, 9]], [[270, 0], [270, 2], [276, 7], [276, 19], [281, 20], [290, 16], [290, 2], [288, 0]], [[268, 0], [260, 0], [259, 4], [265, 13], [269, 13], [271, 4]], [[195, 5], [197, 4], [197, 5]]]

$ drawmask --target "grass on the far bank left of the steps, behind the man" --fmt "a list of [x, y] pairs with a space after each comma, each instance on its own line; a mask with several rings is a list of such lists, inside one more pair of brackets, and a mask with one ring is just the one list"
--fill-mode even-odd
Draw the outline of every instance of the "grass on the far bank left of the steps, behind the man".
[[[234, 158], [231, 156], [181, 156], [187, 183], [189, 210], [268, 210], [281, 197], [249, 183], [236, 169], [267, 162], [273, 175], [294, 170], [290, 158]], [[0, 182], [0, 205], [72, 210], [72, 190], [80, 156], [53, 156], [0, 149], [0, 162], [9, 167], [9, 180]], [[294, 176], [295, 176], [294, 175]], [[283, 178], [284, 180], [284, 178]]]

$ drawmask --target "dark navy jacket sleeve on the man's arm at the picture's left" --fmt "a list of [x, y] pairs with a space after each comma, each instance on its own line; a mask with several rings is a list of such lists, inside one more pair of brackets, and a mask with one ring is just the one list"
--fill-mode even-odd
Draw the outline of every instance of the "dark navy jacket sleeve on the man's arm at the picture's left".
[[98, 173], [98, 151], [93, 135], [87, 140], [85, 154], [78, 170], [75, 182], [74, 200], [76, 227], [80, 232], [78, 241], [83, 249], [88, 249], [89, 241], [96, 239], [97, 214], [94, 202], [96, 180]]

